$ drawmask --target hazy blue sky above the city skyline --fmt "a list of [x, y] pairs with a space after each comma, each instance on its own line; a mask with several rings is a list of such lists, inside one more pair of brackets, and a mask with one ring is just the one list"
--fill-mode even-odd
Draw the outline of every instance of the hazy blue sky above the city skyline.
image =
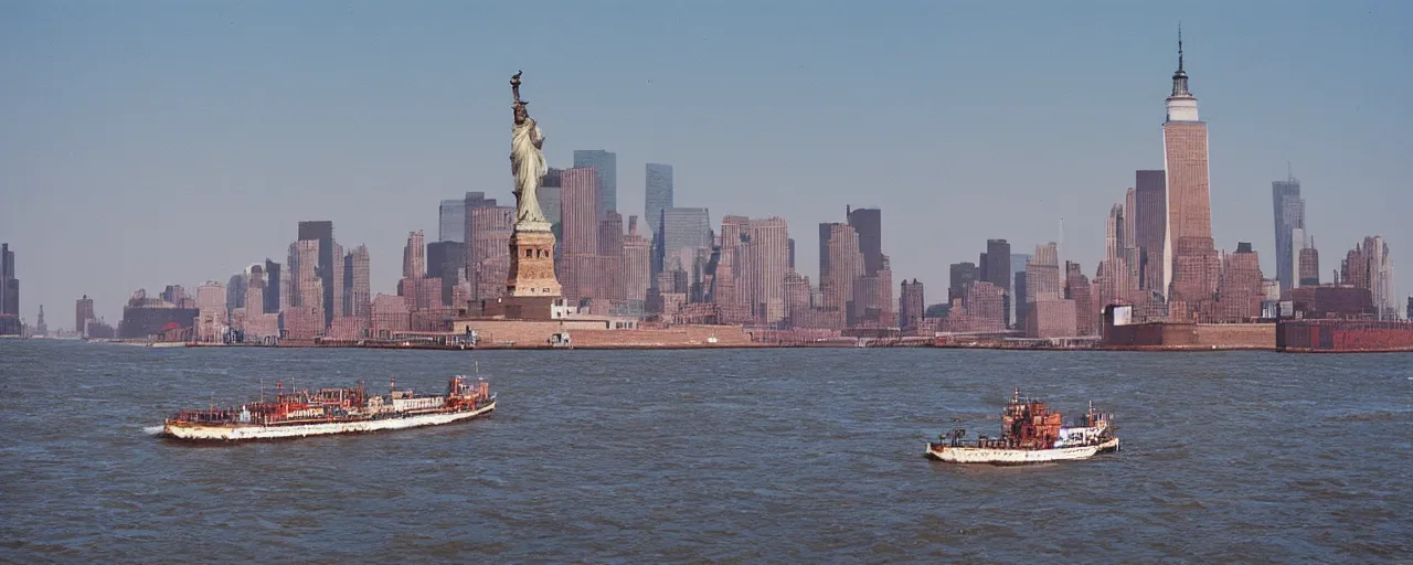
[[883, 209], [894, 281], [928, 302], [988, 237], [1030, 253], [1061, 218], [1092, 277], [1109, 206], [1163, 167], [1181, 20], [1218, 247], [1252, 242], [1275, 277], [1289, 161], [1323, 278], [1382, 234], [1413, 291], [1413, 3], [1063, 4], [4, 1], [0, 242], [51, 328], [81, 294], [116, 325], [140, 287], [283, 263], [302, 219], [367, 244], [393, 292], [439, 199], [513, 202], [524, 69], [551, 165], [616, 151], [625, 216], [668, 162], [714, 223], [787, 219], [815, 282], [815, 226], [845, 205]]

